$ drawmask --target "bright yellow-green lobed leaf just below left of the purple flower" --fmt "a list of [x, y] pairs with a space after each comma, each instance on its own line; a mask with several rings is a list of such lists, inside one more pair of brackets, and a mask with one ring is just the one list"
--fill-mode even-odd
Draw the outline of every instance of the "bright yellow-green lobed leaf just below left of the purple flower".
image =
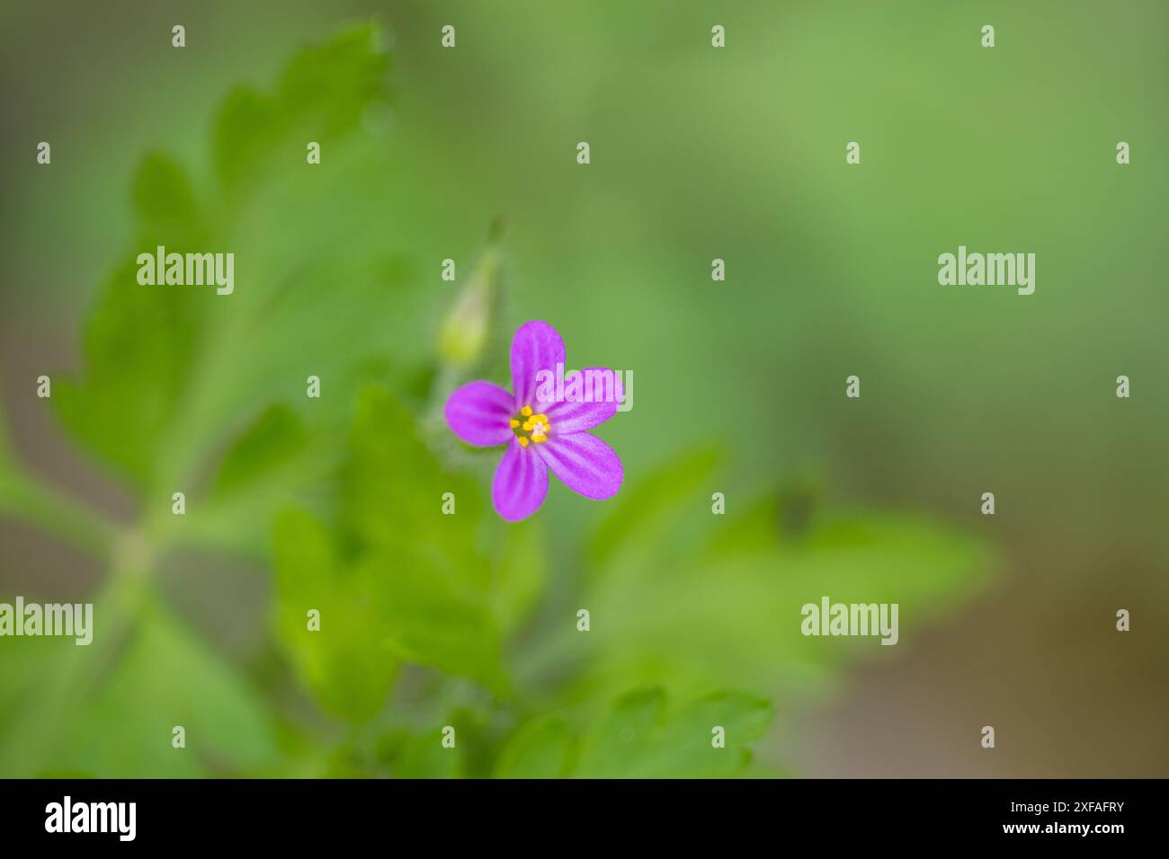
[[[323, 702], [357, 721], [380, 706], [393, 678], [386, 666], [399, 660], [505, 691], [504, 637], [542, 582], [537, 526], [489, 513], [486, 489], [443, 467], [421, 425], [389, 392], [362, 390], [337, 521], [288, 514], [277, 533], [282, 633]], [[451, 515], [442, 512], [448, 493]], [[321, 632], [306, 638], [304, 612], [320, 605], [330, 607]], [[338, 635], [332, 612], [345, 626], [336, 645], [325, 635], [328, 624]], [[360, 694], [346, 700], [351, 685]]]

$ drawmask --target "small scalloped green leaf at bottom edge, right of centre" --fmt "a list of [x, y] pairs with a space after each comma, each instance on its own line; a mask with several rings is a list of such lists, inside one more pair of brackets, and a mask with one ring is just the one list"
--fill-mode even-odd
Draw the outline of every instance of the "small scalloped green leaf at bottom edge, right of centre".
[[[629, 693], [586, 737], [580, 778], [719, 778], [742, 773], [772, 720], [768, 701], [739, 692], [700, 698], [675, 714], [659, 688]], [[713, 733], [722, 728], [725, 746]]]

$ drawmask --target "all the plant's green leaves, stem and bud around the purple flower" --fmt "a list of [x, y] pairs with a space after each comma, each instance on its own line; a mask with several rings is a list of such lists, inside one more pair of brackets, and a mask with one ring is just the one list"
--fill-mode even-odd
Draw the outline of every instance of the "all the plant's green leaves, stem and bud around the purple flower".
[[[506, 366], [510, 331], [486, 311], [503, 250], [492, 240], [470, 269], [475, 300], [448, 317], [444, 354], [420, 320], [445, 299], [407, 310], [420, 261], [392, 237], [415, 213], [393, 205], [400, 167], [364, 123], [389, 101], [387, 69], [373, 28], [346, 30], [293, 57], [271, 91], [228, 96], [202, 180], [144, 159], [134, 241], [85, 321], [82, 370], [53, 397], [140, 515], [96, 521], [22, 473], [0, 437], [0, 512], [108, 568], [92, 646], [28, 639], [0, 660], [0, 775], [772, 773], [750, 755], [772, 697], [888, 650], [803, 638], [803, 603], [899, 602], [912, 646], [980, 583], [981, 545], [911, 517], [791, 492], [712, 517], [718, 444], [657, 470], [628, 463], [595, 528], [502, 521], [498, 452], [466, 456], [440, 411], [470, 366]], [[327, 172], [304, 164], [306, 140]], [[236, 252], [235, 295], [137, 284], [136, 254], [157, 245]], [[254, 651], [224, 658], [164, 600], [158, 575], [187, 548], [271, 569]], [[234, 610], [231, 591], [214, 600]], [[727, 687], [749, 692], [712, 693]], [[186, 749], [171, 747], [177, 725]]]

